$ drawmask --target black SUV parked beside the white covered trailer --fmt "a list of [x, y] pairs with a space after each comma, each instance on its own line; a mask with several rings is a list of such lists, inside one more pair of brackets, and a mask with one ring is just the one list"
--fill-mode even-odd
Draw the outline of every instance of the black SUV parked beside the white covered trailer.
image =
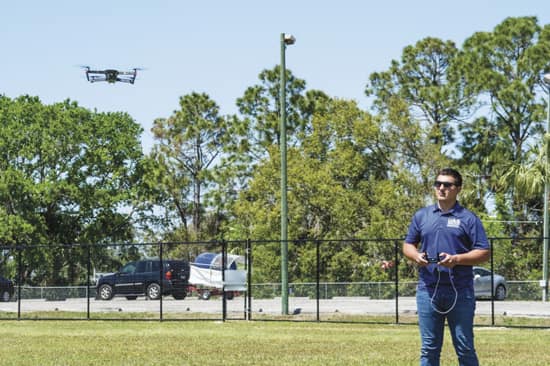
[[96, 299], [111, 300], [113, 296], [126, 296], [128, 300], [135, 300], [145, 295], [151, 300], [158, 300], [161, 291], [162, 295], [172, 295], [176, 300], [185, 299], [189, 285], [189, 263], [166, 259], [162, 261], [162, 272], [160, 263], [159, 259], [130, 262], [120, 271], [101, 277], [97, 281]]

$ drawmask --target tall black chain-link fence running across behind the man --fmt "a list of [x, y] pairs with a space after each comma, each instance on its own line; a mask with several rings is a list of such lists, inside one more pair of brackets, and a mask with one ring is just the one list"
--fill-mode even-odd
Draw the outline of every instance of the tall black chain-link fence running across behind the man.
[[[550, 327], [542, 239], [491, 243], [476, 324]], [[0, 318], [416, 322], [416, 268], [401, 245], [289, 241], [286, 286], [275, 240], [3, 247]]]

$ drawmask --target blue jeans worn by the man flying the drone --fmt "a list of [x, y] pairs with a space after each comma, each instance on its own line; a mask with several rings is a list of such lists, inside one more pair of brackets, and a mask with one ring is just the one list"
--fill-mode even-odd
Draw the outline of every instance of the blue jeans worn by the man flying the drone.
[[[460, 289], [453, 306], [455, 290], [448, 286], [439, 286], [434, 289], [418, 289], [416, 292], [416, 306], [418, 310], [418, 325], [422, 348], [420, 350], [421, 366], [439, 366], [445, 319], [453, 339], [455, 352], [461, 366], [478, 366], [474, 348], [474, 312], [476, 307], [474, 290]], [[437, 311], [436, 311], [437, 310]], [[438, 312], [439, 311], [439, 312]]]

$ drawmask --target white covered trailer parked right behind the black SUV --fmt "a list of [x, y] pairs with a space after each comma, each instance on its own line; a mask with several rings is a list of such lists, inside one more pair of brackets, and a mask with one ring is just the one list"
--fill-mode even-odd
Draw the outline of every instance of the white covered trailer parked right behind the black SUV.
[[221, 253], [205, 252], [191, 263], [189, 289], [190, 292], [197, 293], [199, 299], [208, 300], [225, 291], [225, 298], [232, 300], [239, 295], [239, 291], [246, 290], [246, 271], [238, 269], [238, 263], [244, 263], [244, 257], [227, 254], [223, 280], [222, 259]]

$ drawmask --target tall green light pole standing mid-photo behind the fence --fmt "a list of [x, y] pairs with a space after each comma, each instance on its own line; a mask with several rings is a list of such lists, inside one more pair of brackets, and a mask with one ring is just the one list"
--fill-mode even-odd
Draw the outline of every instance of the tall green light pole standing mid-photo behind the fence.
[[286, 66], [285, 50], [287, 45], [294, 44], [296, 39], [281, 33], [281, 76], [279, 106], [281, 121], [279, 127], [281, 150], [281, 312], [288, 315], [288, 207], [286, 202]]

